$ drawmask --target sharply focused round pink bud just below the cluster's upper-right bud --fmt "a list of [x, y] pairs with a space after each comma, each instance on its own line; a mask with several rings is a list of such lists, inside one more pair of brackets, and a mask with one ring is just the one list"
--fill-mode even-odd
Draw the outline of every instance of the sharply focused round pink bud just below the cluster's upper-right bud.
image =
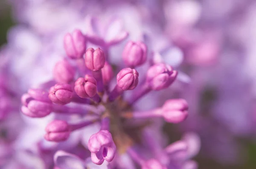
[[116, 76], [117, 86], [122, 90], [133, 90], [139, 82], [139, 73], [135, 69], [124, 68]]

